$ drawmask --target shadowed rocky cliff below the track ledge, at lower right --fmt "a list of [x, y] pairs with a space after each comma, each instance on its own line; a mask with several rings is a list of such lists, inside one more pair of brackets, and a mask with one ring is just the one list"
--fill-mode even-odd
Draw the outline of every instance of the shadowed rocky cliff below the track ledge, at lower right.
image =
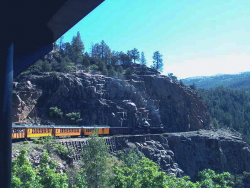
[[168, 174], [188, 175], [212, 169], [217, 173], [242, 174], [250, 171], [250, 148], [228, 130], [166, 133], [163, 135], [114, 138], [118, 150], [133, 147], [158, 163]]

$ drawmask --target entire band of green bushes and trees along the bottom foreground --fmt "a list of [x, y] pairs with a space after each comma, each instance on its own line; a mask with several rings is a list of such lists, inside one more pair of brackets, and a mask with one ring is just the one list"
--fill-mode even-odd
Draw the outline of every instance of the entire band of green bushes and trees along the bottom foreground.
[[[51, 138], [44, 143], [51, 143]], [[64, 154], [65, 148], [54, 146], [54, 151]], [[51, 153], [51, 152], [50, 152]], [[84, 148], [82, 167], [74, 169], [71, 176], [57, 173], [57, 163], [52, 161], [47, 151], [42, 154], [39, 167], [28, 160], [27, 152], [13, 161], [13, 188], [230, 188], [234, 185], [228, 172], [216, 174], [213, 170], [199, 172], [197, 181], [192, 182], [189, 177], [175, 177], [162, 172], [159, 166], [145, 158], [136, 149], [120, 151], [111, 156], [105, 140], [95, 133], [90, 136]], [[68, 173], [70, 174], [70, 173]], [[244, 173], [241, 183], [249, 182], [249, 173]]]

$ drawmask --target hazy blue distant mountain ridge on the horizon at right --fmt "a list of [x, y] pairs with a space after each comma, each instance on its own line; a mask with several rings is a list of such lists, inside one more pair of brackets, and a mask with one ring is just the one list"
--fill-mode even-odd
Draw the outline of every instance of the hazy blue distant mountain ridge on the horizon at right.
[[250, 71], [239, 74], [191, 77], [182, 81], [185, 85], [192, 85], [194, 83], [197, 88], [202, 89], [225, 86], [232, 89], [250, 90]]

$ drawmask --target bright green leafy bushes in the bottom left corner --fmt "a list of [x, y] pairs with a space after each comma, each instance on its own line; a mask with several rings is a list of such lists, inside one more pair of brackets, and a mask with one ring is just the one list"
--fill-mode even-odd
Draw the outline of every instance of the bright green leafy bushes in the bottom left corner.
[[27, 151], [22, 150], [17, 159], [12, 162], [13, 188], [66, 188], [67, 175], [56, 173], [57, 163], [51, 161], [44, 152], [40, 166], [36, 169], [28, 160]]

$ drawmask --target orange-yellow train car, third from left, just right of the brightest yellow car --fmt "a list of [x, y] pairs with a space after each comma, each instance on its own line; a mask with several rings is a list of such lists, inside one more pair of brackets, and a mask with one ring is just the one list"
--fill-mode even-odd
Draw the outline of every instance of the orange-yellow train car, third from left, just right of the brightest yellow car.
[[81, 136], [81, 127], [53, 126], [54, 136]]

